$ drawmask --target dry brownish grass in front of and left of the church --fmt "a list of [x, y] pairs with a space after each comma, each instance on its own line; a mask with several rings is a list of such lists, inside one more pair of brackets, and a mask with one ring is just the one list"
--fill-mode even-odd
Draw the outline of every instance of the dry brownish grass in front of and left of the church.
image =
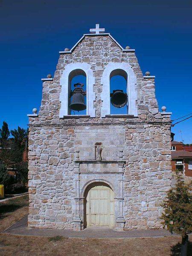
[[[28, 212], [28, 196], [0, 203], [0, 232]], [[180, 237], [137, 239], [67, 239], [0, 234], [0, 255], [178, 256]], [[192, 241], [192, 237], [190, 237]], [[191, 243], [192, 244], [192, 243]], [[192, 255], [191, 244], [188, 255]]]

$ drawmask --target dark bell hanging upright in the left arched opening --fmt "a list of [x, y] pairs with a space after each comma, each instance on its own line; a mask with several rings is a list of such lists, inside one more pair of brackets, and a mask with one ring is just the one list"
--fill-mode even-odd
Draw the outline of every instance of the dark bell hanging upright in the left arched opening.
[[[78, 87], [78, 85], [80, 87]], [[71, 110], [81, 111], [87, 108], [87, 106], [84, 104], [84, 96], [86, 95], [86, 91], [83, 90], [83, 86], [84, 84], [81, 83], [74, 84], [74, 87], [76, 88], [70, 93], [70, 97], [73, 96], [69, 105]]]

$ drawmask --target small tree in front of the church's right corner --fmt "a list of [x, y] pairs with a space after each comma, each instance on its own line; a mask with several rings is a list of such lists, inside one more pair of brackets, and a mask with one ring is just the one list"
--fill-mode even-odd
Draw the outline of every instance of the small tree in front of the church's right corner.
[[189, 192], [190, 185], [186, 185], [177, 174], [175, 187], [167, 192], [163, 201], [164, 213], [162, 214], [163, 227], [171, 233], [182, 236], [181, 256], [186, 256], [188, 233], [192, 232], [192, 195]]

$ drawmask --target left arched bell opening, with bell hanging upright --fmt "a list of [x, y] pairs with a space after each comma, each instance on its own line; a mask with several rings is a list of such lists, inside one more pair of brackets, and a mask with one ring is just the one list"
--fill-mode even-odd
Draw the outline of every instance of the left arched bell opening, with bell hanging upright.
[[84, 70], [76, 69], [69, 74], [68, 114], [86, 115], [87, 113], [87, 76]]

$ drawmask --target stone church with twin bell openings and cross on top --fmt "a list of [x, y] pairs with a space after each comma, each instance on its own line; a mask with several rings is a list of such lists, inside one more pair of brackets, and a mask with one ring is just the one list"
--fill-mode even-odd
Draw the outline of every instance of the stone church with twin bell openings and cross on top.
[[99, 24], [59, 53], [28, 115], [28, 226], [161, 228], [171, 113], [159, 111], [155, 77]]

